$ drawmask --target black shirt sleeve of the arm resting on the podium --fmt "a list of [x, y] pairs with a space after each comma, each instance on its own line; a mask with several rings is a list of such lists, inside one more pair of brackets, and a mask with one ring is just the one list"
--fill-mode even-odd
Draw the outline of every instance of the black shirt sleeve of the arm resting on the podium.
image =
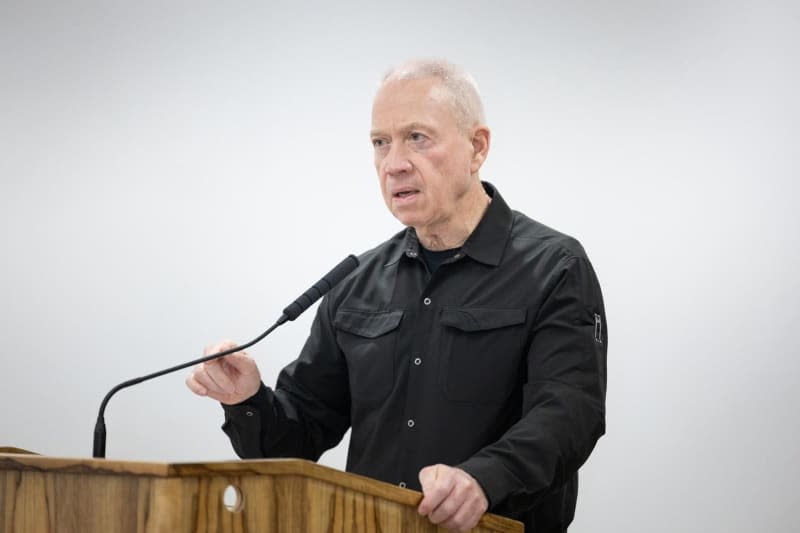
[[533, 325], [522, 418], [458, 465], [493, 512], [531, 508], [569, 481], [605, 432], [608, 332], [588, 260], [563, 262]]

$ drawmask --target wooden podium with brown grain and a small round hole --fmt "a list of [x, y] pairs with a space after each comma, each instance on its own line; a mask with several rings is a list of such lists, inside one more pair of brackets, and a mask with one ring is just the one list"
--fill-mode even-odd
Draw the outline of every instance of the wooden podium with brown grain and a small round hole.
[[[419, 492], [302, 460], [146, 463], [0, 448], [0, 533], [445, 531]], [[522, 532], [485, 515], [474, 532]]]

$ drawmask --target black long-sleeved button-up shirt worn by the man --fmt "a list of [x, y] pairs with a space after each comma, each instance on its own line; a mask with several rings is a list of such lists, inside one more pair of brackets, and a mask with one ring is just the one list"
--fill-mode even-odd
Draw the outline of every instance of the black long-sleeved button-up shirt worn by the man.
[[347, 470], [420, 489], [444, 463], [490, 510], [558, 531], [604, 433], [607, 330], [581, 245], [500, 194], [432, 274], [412, 228], [323, 299], [271, 390], [223, 406], [241, 457], [316, 460], [352, 427]]

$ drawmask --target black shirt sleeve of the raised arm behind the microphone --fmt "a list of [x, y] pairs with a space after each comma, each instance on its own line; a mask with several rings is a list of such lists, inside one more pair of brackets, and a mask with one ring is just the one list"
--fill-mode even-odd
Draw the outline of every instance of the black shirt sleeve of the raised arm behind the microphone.
[[281, 371], [275, 389], [262, 383], [251, 398], [222, 404], [222, 409], [222, 430], [243, 459], [316, 461], [341, 441], [350, 426], [350, 392], [327, 298], [317, 310], [300, 357]]

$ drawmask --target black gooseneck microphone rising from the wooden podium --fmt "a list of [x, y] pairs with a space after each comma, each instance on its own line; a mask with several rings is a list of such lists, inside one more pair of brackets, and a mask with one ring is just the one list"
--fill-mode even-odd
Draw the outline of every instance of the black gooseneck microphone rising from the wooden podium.
[[286, 323], [287, 321], [294, 320], [298, 316], [300, 316], [303, 311], [308, 309], [314, 302], [325, 296], [333, 287], [335, 287], [340, 281], [347, 277], [353, 270], [356, 269], [358, 266], [358, 258], [354, 255], [348, 255], [344, 258], [344, 260], [333, 267], [333, 269], [325, 274], [321, 280], [316, 282], [314, 285], [311, 286], [306, 292], [300, 295], [294, 302], [289, 304], [286, 309], [283, 310], [283, 314], [281, 314], [280, 318], [272, 325], [270, 328], [256, 337], [255, 339], [251, 340], [248, 343], [242, 344], [241, 346], [236, 346], [235, 348], [231, 348], [229, 350], [225, 350], [219, 353], [215, 353], [212, 355], [207, 355], [201, 357], [199, 359], [195, 359], [194, 361], [189, 361], [188, 363], [182, 363], [177, 366], [173, 366], [171, 368], [167, 368], [165, 370], [160, 370], [158, 372], [153, 372], [152, 374], [148, 374], [146, 376], [130, 379], [128, 381], [124, 381], [108, 391], [105, 398], [103, 398], [102, 403], [100, 404], [100, 411], [97, 415], [97, 423], [94, 426], [94, 445], [92, 450], [92, 457], [95, 458], [104, 458], [106, 456], [106, 423], [105, 423], [105, 411], [106, 406], [108, 405], [108, 401], [111, 399], [114, 394], [119, 392], [122, 389], [131, 387], [133, 385], [137, 385], [142, 383], [143, 381], [149, 381], [151, 379], [163, 376], [165, 374], [170, 374], [172, 372], [177, 372], [178, 370], [182, 370], [184, 368], [199, 365], [200, 363], [205, 363], [207, 361], [211, 361], [213, 359], [218, 359], [220, 357], [225, 357], [226, 355], [230, 355], [234, 352], [239, 352], [241, 350], [247, 349], [250, 346], [260, 342], [264, 337], [272, 333], [278, 326], [281, 324]]

